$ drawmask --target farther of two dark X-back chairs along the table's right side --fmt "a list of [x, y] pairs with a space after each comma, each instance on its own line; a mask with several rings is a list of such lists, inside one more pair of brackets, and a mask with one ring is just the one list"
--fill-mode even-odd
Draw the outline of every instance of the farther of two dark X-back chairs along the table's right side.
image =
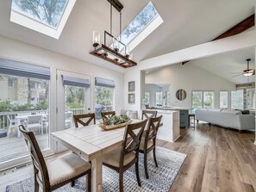
[[141, 137], [140, 141], [140, 150], [139, 152], [144, 153], [144, 170], [145, 176], [148, 179], [147, 172], [147, 153], [153, 150], [153, 160], [156, 167], [158, 167], [158, 163], [155, 155], [155, 141], [156, 136], [159, 130], [159, 125], [162, 119], [162, 115], [158, 117], [150, 117], [148, 119], [147, 129], [144, 131], [145, 134]]

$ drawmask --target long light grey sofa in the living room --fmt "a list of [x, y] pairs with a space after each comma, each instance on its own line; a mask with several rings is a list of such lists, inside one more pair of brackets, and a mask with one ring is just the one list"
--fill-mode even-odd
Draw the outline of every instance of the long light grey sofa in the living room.
[[197, 121], [206, 121], [221, 127], [230, 127], [238, 130], [255, 129], [255, 117], [242, 114], [240, 110], [198, 108]]

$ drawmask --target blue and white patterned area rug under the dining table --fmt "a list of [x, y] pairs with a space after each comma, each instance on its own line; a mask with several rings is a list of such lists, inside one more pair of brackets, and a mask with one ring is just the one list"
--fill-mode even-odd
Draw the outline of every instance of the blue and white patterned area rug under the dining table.
[[[140, 154], [140, 182], [141, 188], [137, 184], [135, 176], [135, 168], [132, 166], [124, 172], [123, 189], [124, 191], [154, 191], [167, 192], [172, 186], [178, 170], [184, 163], [186, 155], [180, 152], [173, 152], [162, 147], [157, 147], [156, 157], [159, 167], [155, 167], [152, 158], [148, 158], [148, 174], [146, 179], [144, 173], [143, 154]], [[6, 192], [32, 192], [34, 191], [34, 179], [32, 177], [19, 183], [14, 183], [6, 187]], [[66, 184], [62, 188], [56, 189], [56, 192], [84, 192], [85, 177], [79, 178], [74, 187]], [[103, 191], [117, 192], [119, 191], [119, 177], [115, 170], [111, 170], [103, 166]]]

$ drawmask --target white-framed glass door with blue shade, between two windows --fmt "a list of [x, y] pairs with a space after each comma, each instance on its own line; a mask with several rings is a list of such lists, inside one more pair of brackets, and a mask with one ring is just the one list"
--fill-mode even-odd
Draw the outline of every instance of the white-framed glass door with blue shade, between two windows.
[[90, 82], [89, 76], [57, 70], [57, 131], [74, 127], [72, 115], [91, 112]]

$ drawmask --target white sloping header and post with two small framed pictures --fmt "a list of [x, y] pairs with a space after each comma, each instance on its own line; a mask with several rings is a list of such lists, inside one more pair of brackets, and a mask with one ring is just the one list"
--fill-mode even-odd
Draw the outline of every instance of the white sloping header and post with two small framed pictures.
[[[191, 46], [173, 53], [167, 53], [152, 59], [146, 59], [138, 63], [138, 66], [133, 67], [124, 74], [124, 108], [130, 110], [140, 110], [141, 103], [141, 77], [140, 72], [162, 67], [166, 65], [174, 65], [186, 60], [200, 59], [209, 57], [218, 53], [228, 53], [247, 47], [256, 46], [256, 31], [248, 31], [246, 33], [237, 34], [222, 40], [207, 42], [198, 46]], [[191, 79], [190, 79], [191, 80]], [[128, 103], [128, 82], [135, 81], [135, 103]], [[172, 83], [171, 83], [172, 84]], [[203, 84], [203, 82], [200, 82]]]

